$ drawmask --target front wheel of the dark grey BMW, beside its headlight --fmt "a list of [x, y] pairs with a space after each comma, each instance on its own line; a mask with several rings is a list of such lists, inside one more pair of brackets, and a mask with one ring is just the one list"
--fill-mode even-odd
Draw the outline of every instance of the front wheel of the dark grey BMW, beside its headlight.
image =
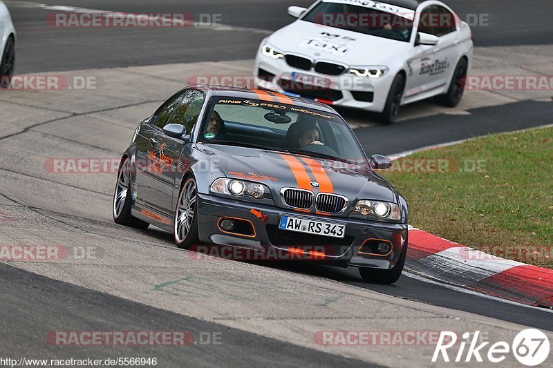
[[188, 249], [200, 244], [198, 234], [198, 201], [196, 180], [189, 177], [185, 180], [178, 194], [173, 225], [175, 244], [180, 249]]

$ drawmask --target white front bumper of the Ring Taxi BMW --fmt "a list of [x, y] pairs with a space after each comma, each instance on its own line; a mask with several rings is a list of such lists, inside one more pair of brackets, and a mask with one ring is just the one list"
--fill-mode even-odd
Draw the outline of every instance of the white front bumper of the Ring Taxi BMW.
[[[260, 77], [260, 69], [269, 72], [274, 77]], [[330, 81], [328, 89], [332, 93], [321, 93], [318, 88], [311, 90], [310, 86], [306, 86], [305, 93], [301, 93], [301, 91], [297, 92], [297, 90], [293, 90], [290, 93], [288, 86], [297, 86], [297, 84], [290, 83], [292, 72], [326, 78]], [[300, 97], [315, 99], [332, 106], [357, 108], [382, 113], [386, 105], [386, 99], [388, 98], [388, 91], [395, 77], [395, 72], [388, 70], [385, 75], [376, 79], [357, 77], [349, 72], [344, 72], [337, 76], [324, 75], [314, 70], [292, 68], [287, 64], [285, 59], [270, 59], [258, 53], [255, 61], [254, 75], [259, 88], [274, 90], [275, 92], [288, 95], [299, 95]], [[319, 90], [319, 93], [317, 93], [317, 90]], [[372, 101], [366, 101], [366, 93], [373, 93]], [[317, 95], [321, 95], [321, 98], [316, 98]], [[331, 95], [332, 97], [326, 97], [326, 95]], [[337, 96], [334, 97], [334, 95]], [[364, 97], [359, 97], [359, 95], [364, 95]]]

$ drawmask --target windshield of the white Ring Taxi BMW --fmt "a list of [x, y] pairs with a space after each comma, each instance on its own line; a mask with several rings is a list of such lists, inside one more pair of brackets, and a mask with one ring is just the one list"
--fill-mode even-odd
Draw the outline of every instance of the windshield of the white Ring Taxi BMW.
[[323, 1], [302, 21], [321, 24], [386, 39], [409, 42], [413, 29], [413, 10], [391, 6], [379, 1]]

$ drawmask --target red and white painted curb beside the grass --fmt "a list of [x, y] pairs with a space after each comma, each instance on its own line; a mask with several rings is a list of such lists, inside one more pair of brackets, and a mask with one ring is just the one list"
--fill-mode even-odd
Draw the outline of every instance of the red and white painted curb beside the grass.
[[553, 270], [505, 260], [409, 226], [406, 269], [534, 307], [553, 308]]

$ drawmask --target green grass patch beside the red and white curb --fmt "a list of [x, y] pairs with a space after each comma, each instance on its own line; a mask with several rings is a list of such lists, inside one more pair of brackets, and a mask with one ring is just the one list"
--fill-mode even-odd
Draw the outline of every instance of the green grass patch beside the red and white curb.
[[471, 139], [406, 159], [449, 163], [442, 173], [380, 171], [406, 197], [411, 225], [553, 268], [553, 128]]

